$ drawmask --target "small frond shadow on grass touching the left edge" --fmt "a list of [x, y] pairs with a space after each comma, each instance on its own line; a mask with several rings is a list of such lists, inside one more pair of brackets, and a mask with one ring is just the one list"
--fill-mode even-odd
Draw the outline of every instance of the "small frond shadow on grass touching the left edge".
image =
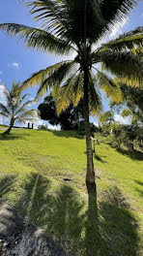
[[0, 179], [0, 199], [14, 187], [14, 180], [15, 176], [12, 175], [3, 176]]

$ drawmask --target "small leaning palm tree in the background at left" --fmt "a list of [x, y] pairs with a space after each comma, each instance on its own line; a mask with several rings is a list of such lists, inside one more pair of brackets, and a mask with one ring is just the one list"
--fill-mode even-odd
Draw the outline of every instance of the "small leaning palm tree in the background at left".
[[24, 123], [26, 120], [32, 121], [36, 118], [35, 110], [27, 110], [30, 105], [34, 104], [34, 101], [30, 100], [23, 103], [28, 94], [21, 97], [19, 87], [18, 82], [13, 82], [11, 90], [8, 90], [6, 86], [3, 86], [2, 89], [2, 96], [6, 105], [0, 103], [0, 115], [10, 120], [9, 128], [4, 134], [10, 134], [15, 121]]

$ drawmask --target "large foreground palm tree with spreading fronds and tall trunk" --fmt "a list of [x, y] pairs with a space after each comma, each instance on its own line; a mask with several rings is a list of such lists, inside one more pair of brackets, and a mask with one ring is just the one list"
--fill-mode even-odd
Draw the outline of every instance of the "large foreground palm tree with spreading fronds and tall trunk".
[[[43, 22], [42, 29], [5, 23], [0, 29], [9, 35], [17, 35], [27, 48], [44, 52], [69, 54], [72, 60], [61, 61], [33, 74], [23, 82], [22, 88], [40, 85], [38, 95], [51, 89], [57, 97], [58, 113], [72, 102], [84, 101], [86, 131], [87, 173], [86, 182], [95, 182], [91, 143], [90, 113], [101, 111], [100, 88], [108, 96], [120, 98], [118, 85], [103, 69], [113, 75], [139, 80], [143, 78], [142, 44], [143, 27], [121, 35], [119, 38], [100, 44], [100, 39], [110, 33], [111, 26], [129, 15], [137, 0], [35, 0], [30, 1], [30, 14]], [[135, 51], [140, 54], [136, 55]], [[100, 71], [97, 64], [102, 64]], [[97, 73], [95, 76], [94, 71]], [[59, 89], [60, 88], [60, 89]]]

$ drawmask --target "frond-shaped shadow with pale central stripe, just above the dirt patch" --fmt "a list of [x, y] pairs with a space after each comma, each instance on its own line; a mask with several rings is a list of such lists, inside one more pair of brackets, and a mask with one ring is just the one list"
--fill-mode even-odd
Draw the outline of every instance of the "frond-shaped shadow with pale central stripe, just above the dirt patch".
[[48, 207], [51, 204], [51, 197], [48, 194], [50, 181], [39, 174], [31, 174], [27, 179], [22, 185], [24, 193], [16, 202], [15, 208], [20, 210], [27, 223], [34, 222], [43, 226], [45, 214], [48, 214]]

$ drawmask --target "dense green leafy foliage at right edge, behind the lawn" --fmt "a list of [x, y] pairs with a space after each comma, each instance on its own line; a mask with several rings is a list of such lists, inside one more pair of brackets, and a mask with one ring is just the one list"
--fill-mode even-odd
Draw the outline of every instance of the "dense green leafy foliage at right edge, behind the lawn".
[[[121, 82], [120, 78], [116, 78], [120, 82], [122, 91], [122, 102], [110, 102], [112, 110], [121, 113], [123, 117], [130, 117], [131, 125], [120, 125], [117, 130], [121, 130], [121, 135], [117, 136], [116, 141], [122, 141], [123, 144], [129, 145], [138, 143], [140, 147], [143, 145], [143, 89], [141, 87], [132, 87]], [[121, 129], [122, 128], [122, 129]], [[114, 129], [115, 131], [115, 129]], [[133, 148], [133, 147], [132, 147]]]

